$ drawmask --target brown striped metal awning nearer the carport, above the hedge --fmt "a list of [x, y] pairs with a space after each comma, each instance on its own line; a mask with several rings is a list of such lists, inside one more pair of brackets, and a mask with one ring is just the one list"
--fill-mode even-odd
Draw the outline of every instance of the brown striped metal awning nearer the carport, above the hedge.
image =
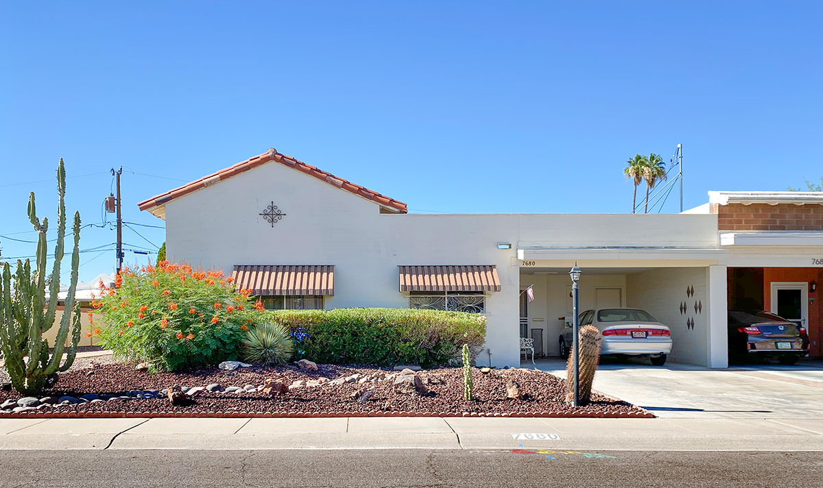
[[401, 266], [400, 291], [500, 291], [494, 265]]

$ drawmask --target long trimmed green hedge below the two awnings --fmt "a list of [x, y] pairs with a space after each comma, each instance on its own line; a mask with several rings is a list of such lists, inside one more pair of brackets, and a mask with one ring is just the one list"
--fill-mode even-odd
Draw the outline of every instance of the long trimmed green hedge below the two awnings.
[[486, 317], [421, 309], [277, 310], [273, 318], [311, 336], [300, 349], [319, 363], [446, 364], [464, 343], [485, 342]]

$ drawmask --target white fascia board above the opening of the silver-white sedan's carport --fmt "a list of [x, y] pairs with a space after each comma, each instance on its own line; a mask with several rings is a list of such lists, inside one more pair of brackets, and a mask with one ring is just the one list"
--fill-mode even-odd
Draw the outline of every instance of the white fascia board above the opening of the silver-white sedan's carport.
[[570, 248], [570, 249], [518, 249], [521, 260], [595, 259], [595, 260], [713, 260], [727, 255], [725, 249], [716, 248]]

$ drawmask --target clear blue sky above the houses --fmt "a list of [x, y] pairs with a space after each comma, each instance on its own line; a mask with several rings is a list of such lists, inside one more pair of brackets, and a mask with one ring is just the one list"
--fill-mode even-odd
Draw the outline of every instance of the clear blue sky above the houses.
[[565, 3], [7, 3], [0, 235], [35, 238], [30, 191], [53, 216], [61, 156], [97, 224], [112, 166], [125, 220], [163, 225], [136, 203], [270, 146], [412, 211], [630, 211], [624, 161], [678, 142], [686, 207], [823, 175], [821, 2]]

